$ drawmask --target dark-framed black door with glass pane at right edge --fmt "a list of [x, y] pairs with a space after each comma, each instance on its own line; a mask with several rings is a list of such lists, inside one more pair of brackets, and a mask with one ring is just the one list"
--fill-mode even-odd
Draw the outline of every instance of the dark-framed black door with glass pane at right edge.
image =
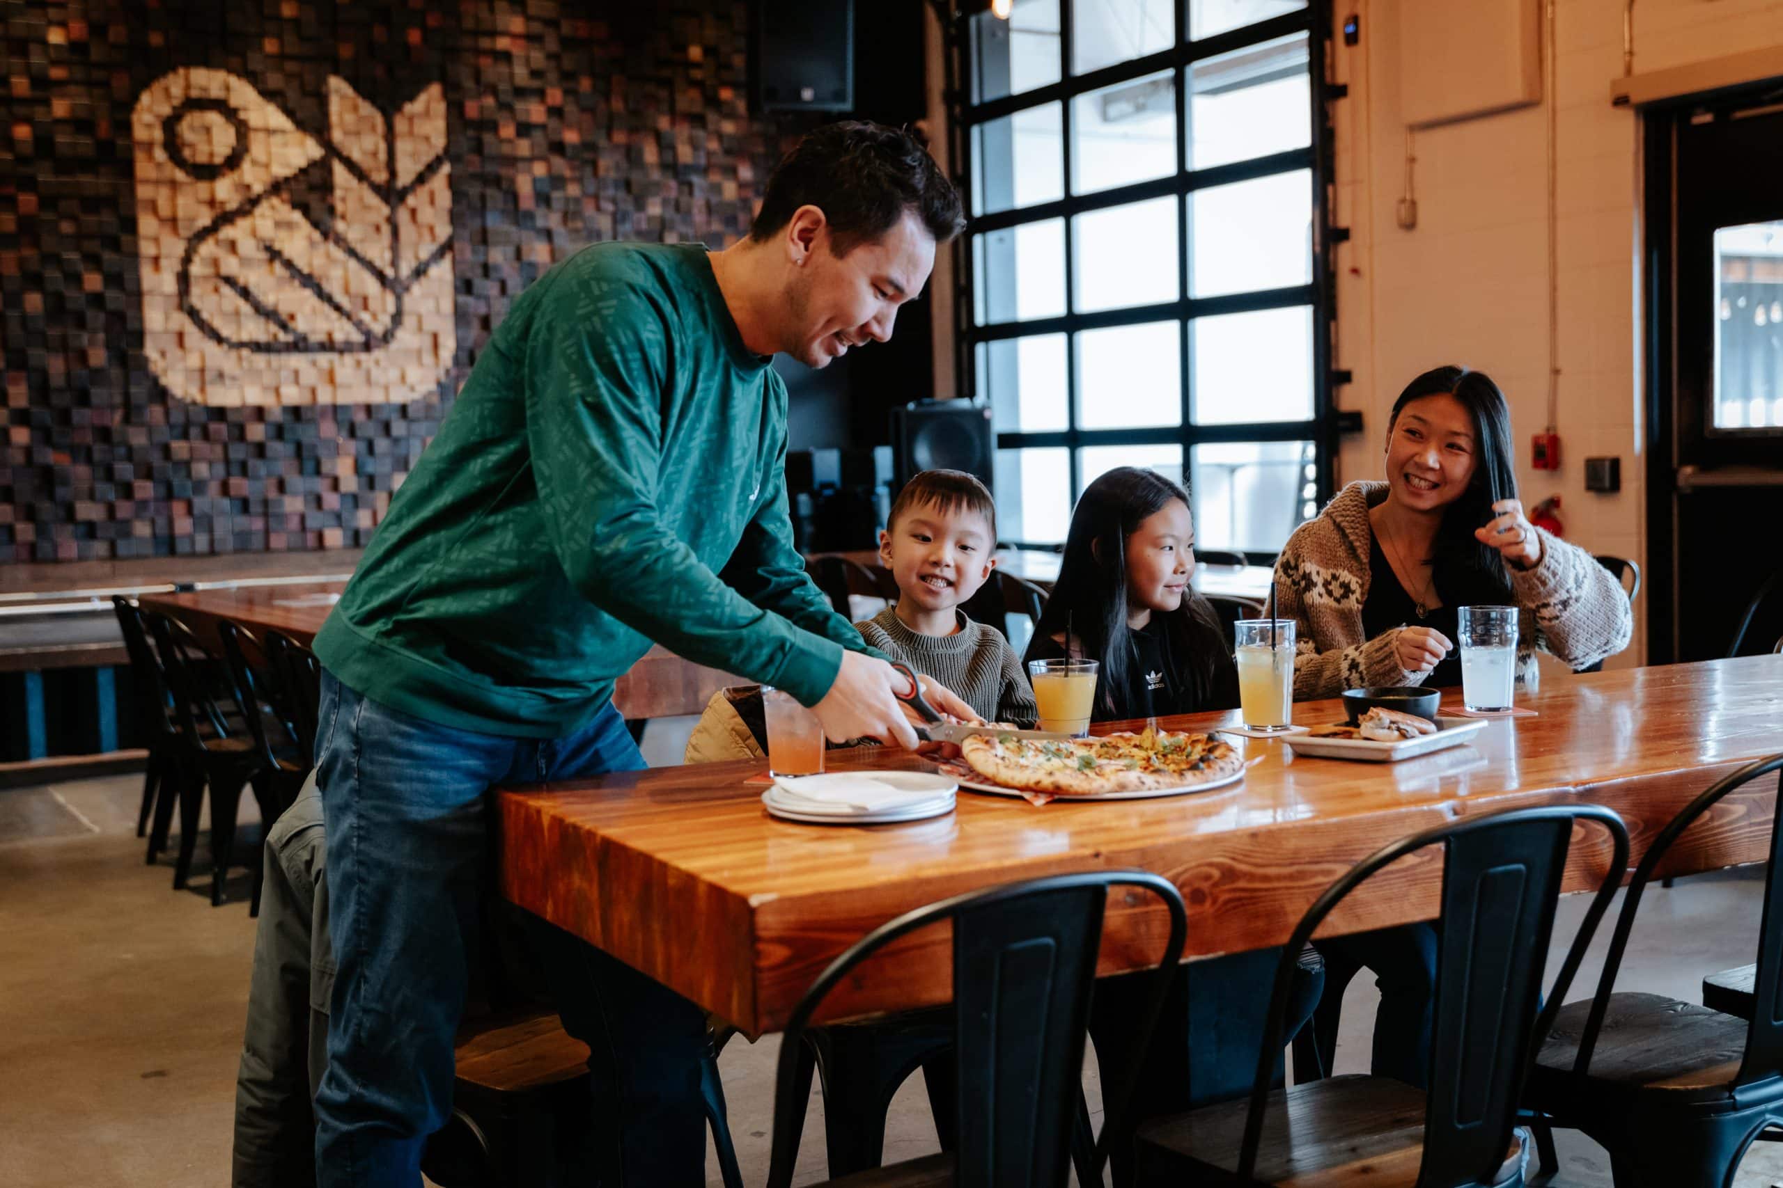
[[[1647, 655], [1728, 655], [1783, 566], [1783, 80], [1647, 110]], [[1742, 654], [1783, 636], [1783, 591]]]

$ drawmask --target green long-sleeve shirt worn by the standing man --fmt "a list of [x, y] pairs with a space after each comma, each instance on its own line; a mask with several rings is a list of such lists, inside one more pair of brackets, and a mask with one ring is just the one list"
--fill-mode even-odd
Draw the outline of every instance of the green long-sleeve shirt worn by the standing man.
[[490, 337], [316, 654], [485, 734], [574, 732], [651, 641], [813, 704], [870, 648], [792, 545], [785, 461], [704, 248], [585, 248]]

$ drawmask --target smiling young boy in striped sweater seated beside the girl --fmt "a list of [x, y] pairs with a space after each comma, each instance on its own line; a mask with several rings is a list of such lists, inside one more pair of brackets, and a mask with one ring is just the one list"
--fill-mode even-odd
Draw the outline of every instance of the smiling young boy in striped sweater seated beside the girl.
[[854, 627], [868, 647], [956, 691], [986, 721], [1034, 725], [1034, 689], [1004, 634], [959, 611], [997, 566], [997, 504], [970, 474], [924, 470], [899, 492], [879, 561], [902, 595]]

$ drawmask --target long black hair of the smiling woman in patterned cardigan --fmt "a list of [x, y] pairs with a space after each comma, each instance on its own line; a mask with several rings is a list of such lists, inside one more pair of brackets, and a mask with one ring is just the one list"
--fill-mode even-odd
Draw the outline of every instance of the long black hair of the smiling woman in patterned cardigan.
[[1485, 527], [1500, 499], [1517, 497], [1516, 454], [1510, 452], [1510, 404], [1492, 378], [1466, 367], [1432, 367], [1405, 385], [1393, 403], [1387, 436], [1400, 420], [1400, 410], [1425, 395], [1453, 395], [1473, 419], [1473, 481], [1462, 497], [1442, 513], [1432, 549], [1437, 593], [1448, 606], [1464, 602], [1508, 602], [1510, 572], [1505, 557], [1475, 538]]

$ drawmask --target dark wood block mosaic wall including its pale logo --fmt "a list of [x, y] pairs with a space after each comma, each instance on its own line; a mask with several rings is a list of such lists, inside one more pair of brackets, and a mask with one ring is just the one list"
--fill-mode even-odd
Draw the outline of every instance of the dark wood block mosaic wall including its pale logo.
[[747, 5], [0, 0], [0, 561], [362, 545], [514, 296], [722, 246]]

